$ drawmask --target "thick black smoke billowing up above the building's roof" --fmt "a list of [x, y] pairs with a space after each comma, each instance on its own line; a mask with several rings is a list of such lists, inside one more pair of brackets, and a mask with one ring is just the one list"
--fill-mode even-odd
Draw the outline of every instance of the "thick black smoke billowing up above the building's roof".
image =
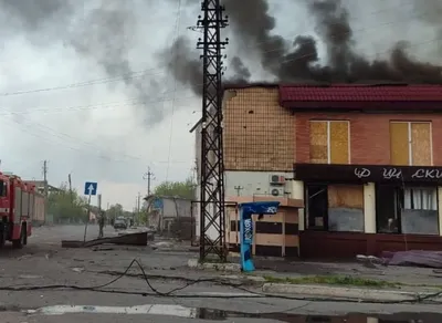
[[[327, 63], [319, 61], [318, 43], [312, 35], [299, 34], [290, 41], [274, 34], [276, 19], [270, 13], [266, 0], [223, 0], [233, 29], [235, 42], [248, 45], [260, 59], [262, 69], [280, 82], [407, 82], [442, 83], [442, 65], [414, 60], [408, 53], [408, 44], [398, 41], [385, 60], [370, 60], [355, 50], [355, 39], [349, 12], [340, 0], [295, 0], [303, 3], [314, 17], [315, 31], [325, 45]], [[442, 38], [441, 1], [415, 1], [421, 11], [420, 19], [439, 30]], [[433, 12], [429, 14], [429, 12]], [[185, 39], [180, 39], [185, 43]], [[197, 66], [198, 54], [187, 53], [191, 60], [180, 60], [179, 69]], [[228, 82], [248, 82], [250, 70], [245, 59], [234, 58], [230, 62], [233, 76]], [[201, 66], [199, 64], [198, 66]], [[201, 67], [199, 67], [201, 70]], [[172, 73], [177, 74], [175, 70]], [[187, 84], [200, 84], [201, 73], [188, 73], [180, 81]], [[199, 90], [199, 88], [197, 88]], [[197, 91], [196, 93], [200, 93]]]

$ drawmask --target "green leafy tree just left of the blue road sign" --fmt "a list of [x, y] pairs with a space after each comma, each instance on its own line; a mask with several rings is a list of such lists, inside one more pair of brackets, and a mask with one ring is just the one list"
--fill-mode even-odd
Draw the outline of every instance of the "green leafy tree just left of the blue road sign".
[[60, 185], [59, 190], [48, 196], [48, 210], [56, 222], [84, 221], [87, 215], [86, 205], [87, 201], [75, 189], [70, 191], [66, 184]]

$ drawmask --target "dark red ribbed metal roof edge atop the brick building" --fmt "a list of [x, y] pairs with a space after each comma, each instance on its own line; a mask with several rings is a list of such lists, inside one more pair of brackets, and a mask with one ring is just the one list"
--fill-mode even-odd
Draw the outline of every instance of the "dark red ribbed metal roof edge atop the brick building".
[[[290, 108], [389, 108], [442, 112], [442, 85], [281, 85], [280, 103]], [[419, 105], [417, 105], [419, 104]]]

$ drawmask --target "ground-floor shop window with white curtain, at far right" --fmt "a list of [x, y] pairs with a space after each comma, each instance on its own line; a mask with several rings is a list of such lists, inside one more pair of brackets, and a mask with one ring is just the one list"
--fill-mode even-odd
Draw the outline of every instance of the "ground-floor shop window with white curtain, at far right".
[[379, 186], [376, 205], [380, 233], [439, 235], [435, 187]]

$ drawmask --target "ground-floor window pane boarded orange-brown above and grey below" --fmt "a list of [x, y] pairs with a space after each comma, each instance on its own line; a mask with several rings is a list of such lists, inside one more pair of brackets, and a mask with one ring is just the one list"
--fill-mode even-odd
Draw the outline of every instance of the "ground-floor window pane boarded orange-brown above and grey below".
[[328, 186], [328, 229], [364, 232], [364, 186]]

